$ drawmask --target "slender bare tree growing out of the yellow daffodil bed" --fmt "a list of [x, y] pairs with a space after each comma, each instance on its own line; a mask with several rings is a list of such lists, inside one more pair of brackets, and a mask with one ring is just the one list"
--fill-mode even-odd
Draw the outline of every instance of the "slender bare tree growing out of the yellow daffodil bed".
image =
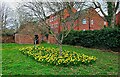
[[[39, 24], [43, 28], [47, 28], [49, 32], [52, 34], [52, 36], [56, 39], [58, 45], [60, 46], [60, 56], [62, 55], [62, 41], [63, 39], [69, 34], [69, 32], [73, 29], [73, 24], [75, 21], [74, 18], [74, 12], [73, 2], [40, 2], [38, 0], [35, 0], [33, 2], [27, 2], [23, 5], [24, 7], [27, 7], [28, 9], [32, 10], [34, 12], [34, 15], [39, 19]], [[82, 7], [82, 6], [81, 6]], [[67, 18], [64, 18], [64, 9], [66, 9], [69, 13], [69, 20]], [[81, 8], [80, 8], [81, 9]], [[52, 26], [49, 22], [46, 22], [46, 19], [48, 18], [48, 14], [54, 14], [57, 15], [57, 18], [59, 19], [59, 24], [57, 27], [62, 27], [60, 30], [61, 33], [56, 33], [54, 29], [52, 29]], [[66, 22], [73, 22], [70, 25], [70, 28], [66, 25]]]

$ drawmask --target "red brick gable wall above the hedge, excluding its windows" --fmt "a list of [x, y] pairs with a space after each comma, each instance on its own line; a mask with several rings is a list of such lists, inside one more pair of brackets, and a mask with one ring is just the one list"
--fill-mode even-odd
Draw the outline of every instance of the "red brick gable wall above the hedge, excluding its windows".
[[[86, 24], [82, 23], [82, 20], [86, 19]], [[93, 20], [93, 24], [91, 24]], [[90, 9], [89, 13], [80, 17], [74, 22], [74, 30], [99, 30], [104, 27], [104, 19], [95, 11], [95, 9]]]

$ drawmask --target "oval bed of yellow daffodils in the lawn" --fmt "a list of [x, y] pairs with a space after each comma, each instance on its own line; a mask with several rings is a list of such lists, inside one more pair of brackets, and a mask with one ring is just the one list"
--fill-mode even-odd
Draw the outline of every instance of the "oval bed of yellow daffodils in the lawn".
[[20, 51], [25, 55], [32, 56], [39, 62], [50, 63], [53, 65], [88, 65], [96, 61], [96, 57], [94, 56], [87, 56], [67, 50], [63, 50], [62, 56], [59, 56], [59, 49], [39, 46], [37, 46], [36, 49], [34, 49], [34, 47], [21, 48]]

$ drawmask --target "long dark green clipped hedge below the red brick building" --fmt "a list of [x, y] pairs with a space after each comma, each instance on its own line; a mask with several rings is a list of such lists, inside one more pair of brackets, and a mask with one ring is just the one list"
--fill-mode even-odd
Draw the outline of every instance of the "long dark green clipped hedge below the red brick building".
[[120, 28], [74, 31], [64, 38], [63, 44], [120, 51]]

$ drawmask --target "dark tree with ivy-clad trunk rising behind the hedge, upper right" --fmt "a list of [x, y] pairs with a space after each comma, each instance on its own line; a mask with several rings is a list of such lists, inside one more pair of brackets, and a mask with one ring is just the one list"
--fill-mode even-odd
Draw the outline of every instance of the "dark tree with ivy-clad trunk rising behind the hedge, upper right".
[[107, 8], [108, 14], [106, 14], [105, 13], [106, 11], [104, 11], [102, 9], [103, 5], [101, 5], [100, 2], [93, 2], [93, 4], [96, 8], [100, 9], [101, 13], [104, 15], [104, 18], [108, 22], [108, 25], [111, 27], [114, 27], [115, 26], [115, 16], [116, 16], [116, 12], [119, 8], [120, 0], [116, 0], [116, 2], [104, 2], [104, 4], [106, 4], [105, 8]]

